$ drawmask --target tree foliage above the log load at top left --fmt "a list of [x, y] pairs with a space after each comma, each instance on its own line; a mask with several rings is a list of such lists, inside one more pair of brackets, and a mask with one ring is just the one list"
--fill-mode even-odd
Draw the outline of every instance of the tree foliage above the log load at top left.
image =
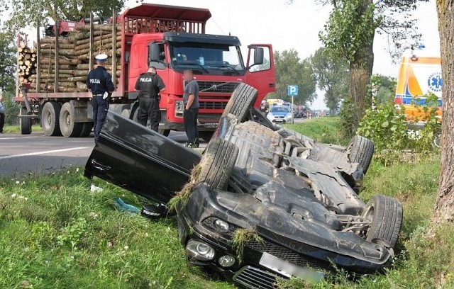
[[11, 10], [6, 21], [6, 28], [15, 33], [37, 20], [48, 23], [49, 20], [79, 21], [89, 17], [90, 11], [99, 16], [111, 16], [112, 9], [119, 11], [124, 0], [0, 0], [3, 14]]

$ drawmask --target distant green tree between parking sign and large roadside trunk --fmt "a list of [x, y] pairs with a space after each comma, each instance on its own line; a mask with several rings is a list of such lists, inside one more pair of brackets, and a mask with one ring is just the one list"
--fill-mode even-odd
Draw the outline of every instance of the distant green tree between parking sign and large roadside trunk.
[[331, 57], [326, 48], [322, 47], [311, 56], [311, 64], [317, 86], [325, 91], [324, 101], [333, 115], [341, 100], [348, 94], [348, 62], [342, 58]]

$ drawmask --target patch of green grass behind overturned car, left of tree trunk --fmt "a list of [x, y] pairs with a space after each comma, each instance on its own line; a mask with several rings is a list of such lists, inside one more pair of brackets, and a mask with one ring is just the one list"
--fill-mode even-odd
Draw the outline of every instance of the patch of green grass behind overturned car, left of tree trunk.
[[311, 137], [318, 142], [347, 145], [350, 140], [343, 140], [341, 137], [337, 127], [338, 121], [338, 117], [312, 118], [295, 125], [286, 125], [286, 127]]

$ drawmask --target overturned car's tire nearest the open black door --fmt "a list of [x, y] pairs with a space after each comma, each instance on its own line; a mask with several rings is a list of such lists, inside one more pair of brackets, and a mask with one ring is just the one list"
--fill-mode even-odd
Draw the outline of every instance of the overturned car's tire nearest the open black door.
[[238, 147], [226, 140], [209, 142], [200, 161], [196, 182], [206, 183], [211, 189], [225, 190], [238, 157]]

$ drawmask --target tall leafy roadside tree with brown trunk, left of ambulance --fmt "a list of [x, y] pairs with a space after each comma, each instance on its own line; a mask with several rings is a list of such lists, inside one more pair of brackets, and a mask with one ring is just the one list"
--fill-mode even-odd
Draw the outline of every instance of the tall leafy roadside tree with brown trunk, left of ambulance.
[[[419, 2], [429, 0], [322, 0], [333, 10], [320, 39], [334, 57], [343, 57], [350, 64], [349, 92], [352, 104], [357, 106], [353, 118], [353, 133], [365, 109], [371, 103], [370, 76], [374, 63], [375, 32], [387, 33], [392, 56], [409, 38], [417, 39], [416, 20], [411, 18]], [[394, 49], [392, 49], [394, 47]]]

